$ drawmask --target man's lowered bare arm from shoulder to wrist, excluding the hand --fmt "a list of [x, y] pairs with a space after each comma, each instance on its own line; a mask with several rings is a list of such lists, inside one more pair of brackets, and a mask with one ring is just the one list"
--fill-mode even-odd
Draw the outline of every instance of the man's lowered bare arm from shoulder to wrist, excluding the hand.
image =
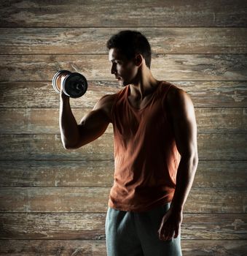
[[184, 91], [181, 89], [173, 91], [168, 102], [170, 102], [176, 146], [181, 155], [176, 176], [176, 190], [170, 207], [182, 211], [197, 169], [197, 124], [192, 100]]

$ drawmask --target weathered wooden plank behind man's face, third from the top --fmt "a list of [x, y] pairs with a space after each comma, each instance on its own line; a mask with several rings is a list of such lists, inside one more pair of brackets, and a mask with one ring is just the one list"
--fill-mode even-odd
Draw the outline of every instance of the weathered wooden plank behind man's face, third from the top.
[[[60, 69], [114, 80], [107, 55], [0, 55], [1, 80], [52, 80]], [[158, 80], [247, 80], [247, 54], [157, 54], [151, 69]]]

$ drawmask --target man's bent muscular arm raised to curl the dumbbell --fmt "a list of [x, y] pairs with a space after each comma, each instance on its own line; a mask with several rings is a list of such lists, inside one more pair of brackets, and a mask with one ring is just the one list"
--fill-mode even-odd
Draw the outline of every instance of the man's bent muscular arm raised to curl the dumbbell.
[[93, 110], [77, 124], [71, 111], [69, 98], [60, 93], [59, 126], [63, 147], [74, 149], [100, 137], [109, 125], [110, 109], [114, 95], [106, 95], [98, 100]]

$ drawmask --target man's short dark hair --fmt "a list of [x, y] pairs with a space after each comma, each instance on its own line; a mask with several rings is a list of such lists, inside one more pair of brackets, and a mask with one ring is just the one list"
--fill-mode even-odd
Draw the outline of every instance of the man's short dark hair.
[[151, 67], [151, 46], [144, 34], [139, 31], [123, 30], [114, 34], [107, 42], [106, 47], [117, 48], [127, 59], [132, 59], [141, 53], [146, 61], [146, 66]]

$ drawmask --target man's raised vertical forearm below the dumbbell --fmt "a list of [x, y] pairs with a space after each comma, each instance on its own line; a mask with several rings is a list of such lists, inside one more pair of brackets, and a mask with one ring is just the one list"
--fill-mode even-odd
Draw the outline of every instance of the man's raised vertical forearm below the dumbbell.
[[59, 127], [63, 147], [72, 148], [79, 140], [79, 131], [68, 98], [60, 98]]

